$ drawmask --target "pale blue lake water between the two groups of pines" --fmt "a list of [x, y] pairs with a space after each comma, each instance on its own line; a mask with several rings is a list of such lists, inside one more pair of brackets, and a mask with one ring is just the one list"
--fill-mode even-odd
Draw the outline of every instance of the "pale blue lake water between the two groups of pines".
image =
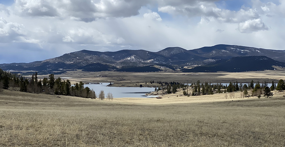
[[110, 83], [102, 83], [102, 84], [85, 84], [84, 87], [89, 87], [93, 89], [98, 96], [101, 90], [104, 91], [105, 97], [108, 92], [113, 94], [114, 98], [121, 97], [144, 97], [151, 98], [154, 96], [147, 96], [146, 93], [153, 92], [155, 88], [147, 88], [147, 87], [109, 87]]

